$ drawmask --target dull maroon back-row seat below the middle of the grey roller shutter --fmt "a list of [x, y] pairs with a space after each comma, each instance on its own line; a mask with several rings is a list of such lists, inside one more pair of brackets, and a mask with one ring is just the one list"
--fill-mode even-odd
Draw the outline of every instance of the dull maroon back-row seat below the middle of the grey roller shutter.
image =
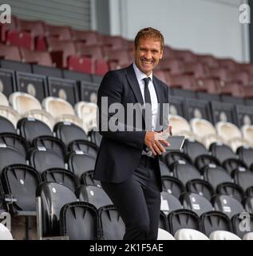
[[45, 36], [57, 37], [59, 40], [70, 40], [73, 38], [73, 30], [70, 26], [53, 26], [45, 24]]

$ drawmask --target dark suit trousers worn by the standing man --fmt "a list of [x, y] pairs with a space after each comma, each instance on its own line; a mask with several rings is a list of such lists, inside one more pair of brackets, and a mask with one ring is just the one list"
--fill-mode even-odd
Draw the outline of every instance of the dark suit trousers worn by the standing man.
[[158, 162], [141, 156], [125, 182], [101, 182], [125, 222], [124, 240], [156, 240], [160, 219]]

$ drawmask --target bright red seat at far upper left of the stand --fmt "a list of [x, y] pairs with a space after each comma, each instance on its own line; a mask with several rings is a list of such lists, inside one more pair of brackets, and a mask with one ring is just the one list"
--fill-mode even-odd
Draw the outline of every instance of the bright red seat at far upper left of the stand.
[[6, 35], [6, 45], [20, 46], [34, 50], [34, 40], [29, 32], [10, 30]]

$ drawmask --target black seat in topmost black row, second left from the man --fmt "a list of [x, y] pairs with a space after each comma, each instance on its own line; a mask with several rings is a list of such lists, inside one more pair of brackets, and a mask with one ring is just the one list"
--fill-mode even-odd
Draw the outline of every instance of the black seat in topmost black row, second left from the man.
[[60, 138], [65, 144], [66, 149], [70, 142], [76, 140], [88, 140], [88, 136], [85, 134], [85, 131], [71, 122], [57, 122], [53, 126], [53, 131], [57, 138]]

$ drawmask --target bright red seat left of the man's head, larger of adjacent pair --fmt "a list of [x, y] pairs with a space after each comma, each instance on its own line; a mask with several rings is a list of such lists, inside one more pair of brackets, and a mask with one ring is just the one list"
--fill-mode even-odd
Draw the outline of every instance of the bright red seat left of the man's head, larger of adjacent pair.
[[88, 57], [69, 56], [68, 58], [69, 70], [83, 72], [87, 74], [93, 73], [93, 60]]

